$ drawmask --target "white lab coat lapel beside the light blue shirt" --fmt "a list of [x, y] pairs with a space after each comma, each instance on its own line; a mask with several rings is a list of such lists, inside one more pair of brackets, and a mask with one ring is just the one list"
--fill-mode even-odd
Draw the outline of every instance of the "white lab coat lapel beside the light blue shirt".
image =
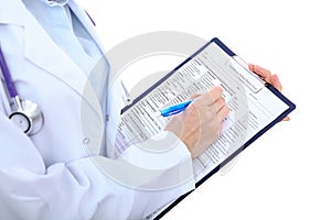
[[52, 41], [24, 4], [19, 0], [11, 0], [0, 11], [0, 23], [23, 26], [25, 58], [70, 86], [99, 111], [98, 98], [86, 75]]

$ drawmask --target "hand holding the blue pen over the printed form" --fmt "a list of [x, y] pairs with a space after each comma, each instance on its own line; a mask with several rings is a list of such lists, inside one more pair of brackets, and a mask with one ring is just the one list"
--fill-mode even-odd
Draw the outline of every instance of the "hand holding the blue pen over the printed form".
[[222, 94], [221, 87], [213, 87], [197, 96], [184, 112], [174, 116], [166, 127], [185, 143], [193, 158], [221, 134], [222, 121], [229, 112]]

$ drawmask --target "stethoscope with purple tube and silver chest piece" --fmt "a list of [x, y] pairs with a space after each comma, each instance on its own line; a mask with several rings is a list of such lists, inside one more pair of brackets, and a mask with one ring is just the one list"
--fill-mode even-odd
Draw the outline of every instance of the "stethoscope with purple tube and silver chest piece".
[[25, 134], [33, 135], [38, 133], [44, 123], [43, 113], [39, 106], [30, 100], [22, 100], [19, 97], [17, 88], [12, 81], [11, 74], [8, 69], [1, 46], [0, 46], [0, 67], [4, 78], [4, 85], [12, 100], [11, 113], [9, 119], [17, 124]]

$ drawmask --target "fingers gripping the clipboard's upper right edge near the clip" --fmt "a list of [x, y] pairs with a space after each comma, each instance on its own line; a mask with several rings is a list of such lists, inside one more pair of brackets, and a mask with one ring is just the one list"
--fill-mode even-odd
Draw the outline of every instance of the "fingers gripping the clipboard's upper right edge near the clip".
[[[277, 74], [271, 74], [270, 70], [265, 69], [265, 68], [263, 68], [258, 65], [254, 65], [254, 64], [248, 64], [248, 68], [250, 72], [258, 75], [264, 81], [273, 85], [277, 90], [281, 91], [282, 86], [279, 81]], [[290, 118], [286, 117], [282, 121], [289, 121], [289, 120], [290, 120]]]

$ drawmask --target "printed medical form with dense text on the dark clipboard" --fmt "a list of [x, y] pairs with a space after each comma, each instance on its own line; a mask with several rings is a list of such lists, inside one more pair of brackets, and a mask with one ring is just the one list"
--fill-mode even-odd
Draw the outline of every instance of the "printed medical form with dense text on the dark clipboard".
[[220, 40], [212, 40], [125, 108], [115, 154], [163, 131], [171, 117], [154, 117], [160, 109], [221, 86], [231, 111], [223, 121], [220, 138], [193, 161], [195, 183], [201, 184], [215, 168], [295, 109], [292, 102], [270, 85], [266, 86], [248, 70], [247, 64], [224, 46]]

